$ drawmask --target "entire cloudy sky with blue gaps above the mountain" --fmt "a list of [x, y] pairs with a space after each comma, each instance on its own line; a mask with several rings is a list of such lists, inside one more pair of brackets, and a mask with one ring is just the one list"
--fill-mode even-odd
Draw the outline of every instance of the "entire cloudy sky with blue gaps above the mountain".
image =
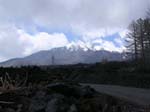
[[84, 44], [122, 52], [128, 25], [150, 0], [0, 0], [0, 62]]

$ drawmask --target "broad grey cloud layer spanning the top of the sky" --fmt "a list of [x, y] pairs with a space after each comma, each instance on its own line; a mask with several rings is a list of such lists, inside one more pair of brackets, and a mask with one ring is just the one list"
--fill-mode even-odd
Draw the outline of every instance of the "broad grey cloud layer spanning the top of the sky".
[[145, 16], [149, 0], [1, 0], [1, 19], [51, 27], [126, 27]]

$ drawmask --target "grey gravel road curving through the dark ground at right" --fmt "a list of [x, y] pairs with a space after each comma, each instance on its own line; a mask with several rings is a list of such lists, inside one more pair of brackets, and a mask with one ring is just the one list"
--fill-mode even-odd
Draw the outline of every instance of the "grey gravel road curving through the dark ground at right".
[[105, 93], [111, 96], [122, 98], [142, 106], [150, 106], [150, 90], [148, 89], [100, 84], [82, 85], [89, 85], [100, 93]]

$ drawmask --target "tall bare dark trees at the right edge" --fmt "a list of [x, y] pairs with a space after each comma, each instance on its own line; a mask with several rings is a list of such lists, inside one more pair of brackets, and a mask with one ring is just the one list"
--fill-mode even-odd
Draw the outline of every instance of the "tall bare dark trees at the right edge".
[[141, 65], [150, 63], [150, 10], [147, 17], [133, 21], [127, 35], [128, 53]]

